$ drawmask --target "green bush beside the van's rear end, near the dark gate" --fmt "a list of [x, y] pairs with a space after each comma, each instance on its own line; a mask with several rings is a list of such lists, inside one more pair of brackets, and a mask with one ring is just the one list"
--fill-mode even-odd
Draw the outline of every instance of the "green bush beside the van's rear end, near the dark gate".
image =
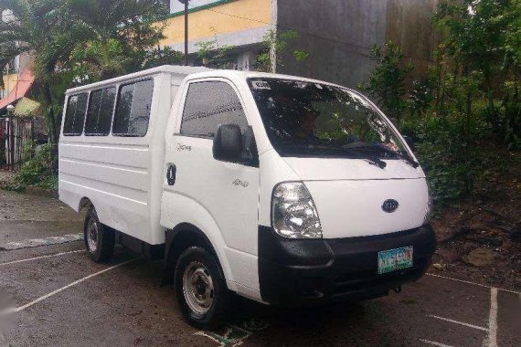
[[53, 173], [55, 145], [44, 144], [35, 149], [34, 143], [28, 142], [24, 148], [24, 158], [28, 159], [13, 181], [5, 189], [17, 192], [24, 191], [28, 185], [43, 189], [57, 189], [58, 177]]

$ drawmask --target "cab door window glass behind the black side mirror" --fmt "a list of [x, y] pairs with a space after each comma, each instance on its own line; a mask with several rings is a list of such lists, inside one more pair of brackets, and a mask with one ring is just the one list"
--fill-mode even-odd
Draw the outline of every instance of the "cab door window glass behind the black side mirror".
[[239, 97], [226, 82], [196, 82], [186, 94], [181, 134], [213, 138], [219, 124], [237, 124], [242, 133], [248, 121]]

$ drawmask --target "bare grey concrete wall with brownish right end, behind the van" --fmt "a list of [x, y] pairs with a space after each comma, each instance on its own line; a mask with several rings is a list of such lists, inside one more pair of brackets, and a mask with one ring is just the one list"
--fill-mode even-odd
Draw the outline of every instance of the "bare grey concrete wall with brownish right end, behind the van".
[[[278, 30], [299, 33], [282, 54], [278, 72], [355, 87], [372, 68], [370, 50], [393, 39], [421, 67], [434, 39], [431, 16], [438, 0], [273, 0]], [[292, 51], [310, 54], [295, 62]]]

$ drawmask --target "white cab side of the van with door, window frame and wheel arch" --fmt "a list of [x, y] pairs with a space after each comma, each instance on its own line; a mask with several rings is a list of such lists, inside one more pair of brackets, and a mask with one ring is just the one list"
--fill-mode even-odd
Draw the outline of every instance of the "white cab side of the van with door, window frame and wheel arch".
[[161, 225], [197, 226], [216, 248], [229, 288], [259, 300], [259, 280], [251, 274], [257, 273], [260, 169], [216, 161], [211, 139], [179, 134], [179, 120], [190, 83], [208, 81], [229, 84], [253, 126], [250, 108], [232, 80], [217, 76], [186, 79], [165, 131], [164, 177], [174, 163], [176, 178], [172, 186], [163, 179]]

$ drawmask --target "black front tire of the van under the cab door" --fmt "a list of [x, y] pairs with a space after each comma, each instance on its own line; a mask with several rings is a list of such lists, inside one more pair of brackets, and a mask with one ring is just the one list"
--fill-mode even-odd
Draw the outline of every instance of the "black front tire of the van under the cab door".
[[[190, 271], [191, 268], [194, 267], [194, 264], [196, 264], [195, 266], [197, 267], [201, 266], [206, 268], [206, 274], [210, 277], [213, 285], [211, 286], [213, 288], [212, 302], [210, 305], [207, 305], [206, 312], [193, 310], [188, 303], [188, 300], [190, 299], [187, 299], [185, 293], [183, 283], [184, 278], [186, 277], [186, 274], [191, 273]], [[183, 312], [183, 316], [190, 325], [202, 330], [214, 330], [218, 328], [228, 307], [229, 290], [226, 286], [226, 280], [224, 279], [218, 265], [218, 259], [214, 255], [201, 247], [186, 248], [186, 250], [181, 253], [181, 256], [177, 260], [177, 264], [175, 265], [174, 286], [177, 302]], [[193, 286], [197, 287], [197, 285]], [[209, 286], [205, 287], [208, 288]], [[190, 295], [188, 294], [188, 296]]]

